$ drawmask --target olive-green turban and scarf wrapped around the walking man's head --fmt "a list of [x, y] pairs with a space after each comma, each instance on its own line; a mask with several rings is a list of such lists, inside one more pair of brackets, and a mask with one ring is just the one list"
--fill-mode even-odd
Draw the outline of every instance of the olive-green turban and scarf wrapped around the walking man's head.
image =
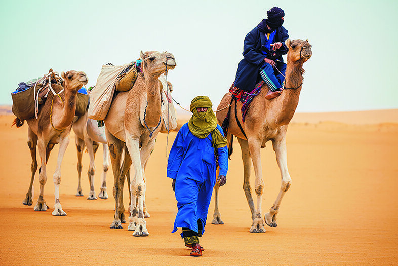
[[[209, 134], [212, 136], [212, 144], [215, 150], [225, 147], [227, 139], [216, 129], [217, 118], [212, 110], [212, 102], [207, 96], [195, 97], [189, 106], [192, 117], [189, 119], [188, 127], [191, 133], [198, 138], [206, 138]], [[207, 107], [206, 112], [197, 112], [196, 108]]]

